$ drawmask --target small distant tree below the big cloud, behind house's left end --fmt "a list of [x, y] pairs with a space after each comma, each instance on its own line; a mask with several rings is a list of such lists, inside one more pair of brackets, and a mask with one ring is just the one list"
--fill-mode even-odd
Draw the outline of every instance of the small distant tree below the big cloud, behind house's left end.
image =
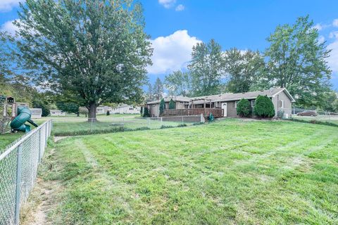
[[165, 88], [169, 90], [170, 96], [189, 96], [192, 92], [191, 79], [189, 72], [180, 70], [174, 71], [165, 76]]

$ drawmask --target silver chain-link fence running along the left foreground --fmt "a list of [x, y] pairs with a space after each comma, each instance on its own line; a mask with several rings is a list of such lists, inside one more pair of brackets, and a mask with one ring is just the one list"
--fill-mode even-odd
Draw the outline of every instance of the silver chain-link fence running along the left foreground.
[[1, 153], [0, 224], [19, 224], [20, 206], [35, 184], [51, 126], [51, 120], [44, 122]]

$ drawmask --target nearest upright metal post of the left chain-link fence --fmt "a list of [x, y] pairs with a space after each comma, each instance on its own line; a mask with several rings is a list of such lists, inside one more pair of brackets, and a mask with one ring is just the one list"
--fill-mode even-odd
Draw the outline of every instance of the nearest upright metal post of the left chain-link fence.
[[16, 156], [16, 184], [15, 184], [15, 224], [20, 222], [20, 191], [21, 191], [21, 172], [23, 166], [23, 145], [18, 146]]

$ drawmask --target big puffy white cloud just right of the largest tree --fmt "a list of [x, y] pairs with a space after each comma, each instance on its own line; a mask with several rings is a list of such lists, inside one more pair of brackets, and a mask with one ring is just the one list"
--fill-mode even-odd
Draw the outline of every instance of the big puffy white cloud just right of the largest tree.
[[186, 68], [192, 59], [192, 47], [201, 42], [196, 37], [189, 36], [187, 30], [177, 30], [167, 37], [151, 40], [154, 48], [153, 65], [147, 68], [151, 74], [173, 72]]

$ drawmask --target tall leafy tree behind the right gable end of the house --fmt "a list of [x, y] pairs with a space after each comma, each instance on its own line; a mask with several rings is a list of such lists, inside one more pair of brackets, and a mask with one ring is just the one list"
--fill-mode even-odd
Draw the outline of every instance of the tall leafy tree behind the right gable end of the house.
[[302, 106], [318, 105], [320, 93], [329, 90], [330, 68], [326, 58], [330, 51], [325, 42], [318, 41], [318, 30], [308, 16], [300, 17], [294, 25], [280, 25], [268, 37], [265, 51], [268, 75], [258, 84], [264, 88], [286, 87]]

